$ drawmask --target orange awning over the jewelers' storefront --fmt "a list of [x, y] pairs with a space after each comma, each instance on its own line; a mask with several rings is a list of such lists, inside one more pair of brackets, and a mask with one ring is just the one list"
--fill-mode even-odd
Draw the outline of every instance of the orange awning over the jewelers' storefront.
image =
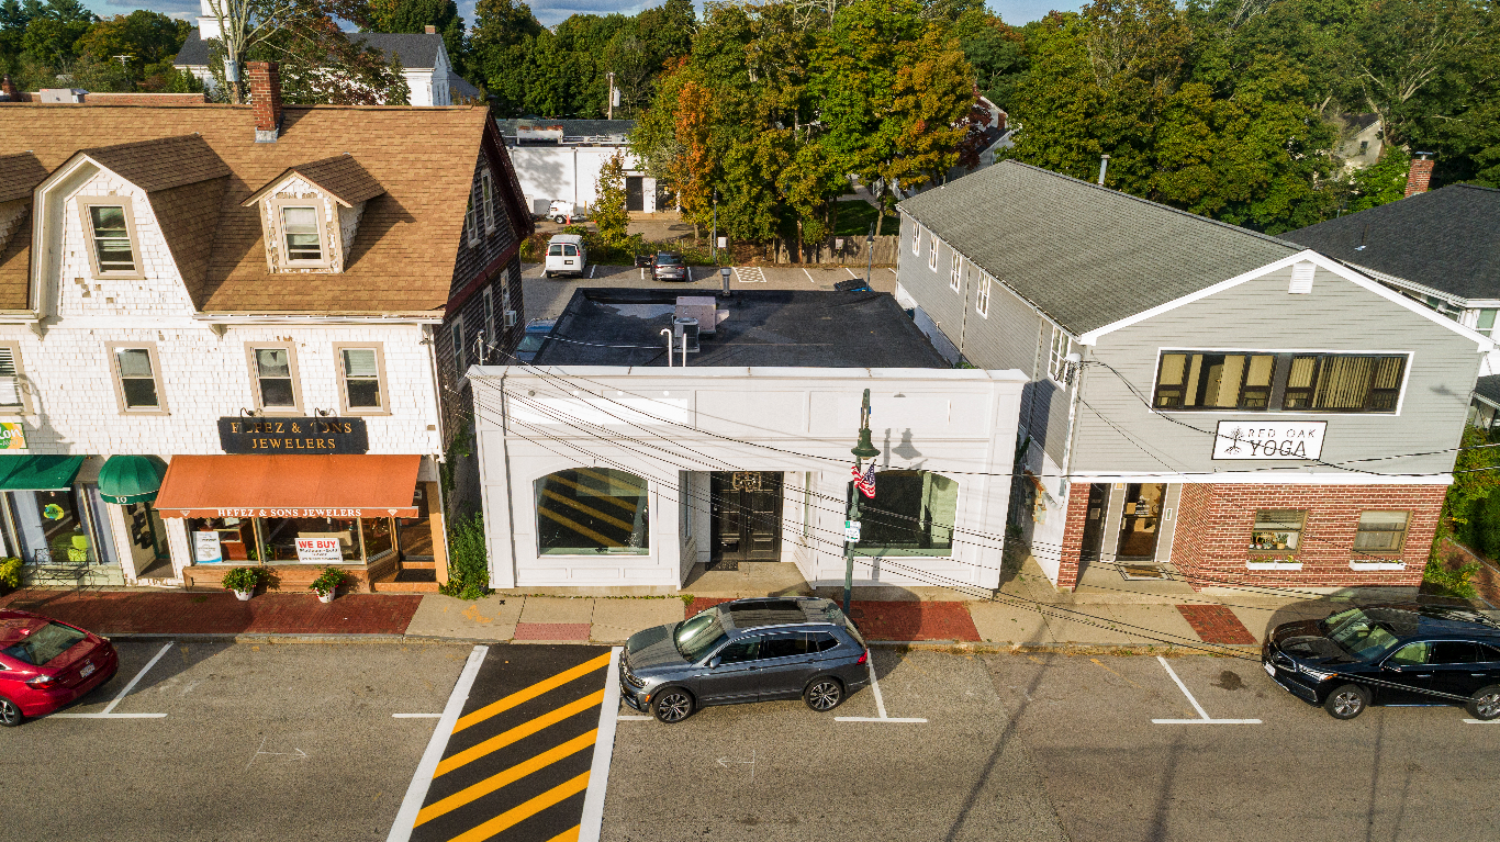
[[174, 456], [164, 518], [416, 518], [422, 456]]

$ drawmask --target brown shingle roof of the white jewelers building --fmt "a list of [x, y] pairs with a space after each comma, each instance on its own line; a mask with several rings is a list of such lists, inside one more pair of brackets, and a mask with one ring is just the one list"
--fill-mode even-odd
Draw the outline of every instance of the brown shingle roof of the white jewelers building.
[[[228, 168], [216, 221], [212, 231], [202, 233], [204, 245], [212, 233], [212, 246], [196, 255], [172, 249], [200, 311], [430, 312], [448, 299], [486, 120], [484, 108], [288, 105], [278, 143], [258, 144], [249, 107], [10, 104], [0, 107], [0, 155], [33, 150], [52, 171], [81, 149], [96, 147], [98, 141], [132, 144], [196, 134]], [[118, 150], [118, 144], [111, 149]], [[268, 273], [256, 210], [240, 203], [279, 173], [326, 159], [330, 150], [350, 153], [384, 189], [364, 206], [350, 263], [338, 275]], [[132, 164], [117, 161], [117, 165], [128, 168]], [[171, 183], [164, 176], [142, 177], [159, 179], [153, 185]], [[201, 194], [189, 195], [188, 188], [176, 189], [183, 194], [172, 195], [177, 210], [171, 216], [212, 204]], [[153, 207], [159, 203], [156, 195], [152, 201]], [[200, 218], [201, 224], [202, 218], [207, 215]], [[28, 236], [16, 233], [12, 246], [18, 242], [30, 249]], [[196, 290], [190, 270], [194, 258], [204, 264]], [[15, 282], [21, 285], [22, 302], [15, 306], [26, 306], [26, 273], [27, 255], [12, 255], [10, 249], [0, 254], [0, 309], [9, 306], [8, 299], [14, 296], [6, 290]]]

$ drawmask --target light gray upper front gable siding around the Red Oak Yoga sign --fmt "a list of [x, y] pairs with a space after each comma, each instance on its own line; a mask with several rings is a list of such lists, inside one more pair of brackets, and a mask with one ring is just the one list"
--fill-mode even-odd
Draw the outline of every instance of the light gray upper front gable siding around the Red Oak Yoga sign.
[[[1256, 468], [1304, 470], [1306, 462], [1214, 461], [1221, 420], [1328, 422], [1323, 461], [1344, 462], [1455, 447], [1479, 371], [1476, 342], [1420, 314], [1318, 269], [1312, 293], [1290, 294], [1292, 270], [1179, 306], [1106, 333], [1090, 348], [1074, 440], [1074, 471], [1214, 473]], [[1401, 413], [1162, 413], [1148, 410], [1161, 350], [1394, 351], [1412, 353]], [[1086, 404], [1086, 405], [1084, 405]], [[1092, 410], [1113, 422], [1113, 428]], [[1180, 422], [1180, 423], [1174, 423]], [[1116, 429], [1119, 428], [1119, 429]], [[1194, 429], [1196, 428], [1196, 429]], [[1443, 473], [1452, 452], [1350, 467], [1388, 474]], [[1334, 468], [1316, 467], [1318, 471]], [[1266, 471], [1276, 476], [1275, 470]], [[1358, 474], [1352, 474], [1358, 476]]]

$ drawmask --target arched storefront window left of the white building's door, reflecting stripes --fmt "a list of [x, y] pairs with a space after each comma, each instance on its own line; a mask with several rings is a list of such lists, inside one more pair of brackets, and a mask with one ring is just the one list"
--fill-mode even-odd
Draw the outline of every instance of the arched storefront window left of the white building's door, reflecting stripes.
[[650, 552], [646, 480], [612, 468], [558, 471], [537, 480], [543, 555]]

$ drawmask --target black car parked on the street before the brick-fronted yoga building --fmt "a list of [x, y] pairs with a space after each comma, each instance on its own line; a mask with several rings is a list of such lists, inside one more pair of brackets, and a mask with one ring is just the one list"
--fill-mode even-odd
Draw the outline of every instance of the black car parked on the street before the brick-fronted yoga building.
[[1353, 719], [1371, 704], [1464, 704], [1500, 716], [1500, 624], [1434, 605], [1350, 608], [1276, 626], [1262, 665], [1287, 692]]

